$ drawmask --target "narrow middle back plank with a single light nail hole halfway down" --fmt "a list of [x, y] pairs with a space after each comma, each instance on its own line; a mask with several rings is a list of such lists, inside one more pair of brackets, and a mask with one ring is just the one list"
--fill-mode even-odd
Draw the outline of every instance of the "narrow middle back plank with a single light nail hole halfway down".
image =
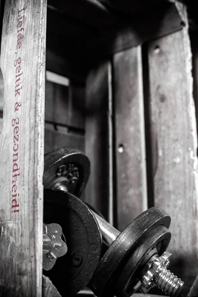
[[117, 220], [122, 231], [147, 209], [141, 47], [114, 54]]

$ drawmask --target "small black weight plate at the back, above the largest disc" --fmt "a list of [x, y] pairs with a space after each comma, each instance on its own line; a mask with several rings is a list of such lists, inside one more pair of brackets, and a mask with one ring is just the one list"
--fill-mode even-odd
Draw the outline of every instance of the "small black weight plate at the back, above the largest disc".
[[62, 189], [80, 197], [90, 176], [90, 160], [77, 148], [62, 147], [44, 156], [44, 188]]

